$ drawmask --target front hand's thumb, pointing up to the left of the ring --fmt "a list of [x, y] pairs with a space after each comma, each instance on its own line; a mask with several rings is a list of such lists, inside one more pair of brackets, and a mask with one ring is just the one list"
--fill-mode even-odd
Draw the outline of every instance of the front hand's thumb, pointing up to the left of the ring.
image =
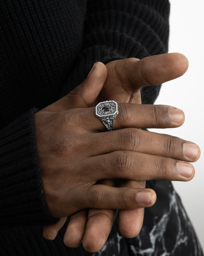
[[59, 101], [47, 106], [45, 111], [64, 111], [71, 108], [89, 107], [97, 98], [107, 78], [107, 68], [97, 62], [88, 74], [88, 77], [74, 90]]

